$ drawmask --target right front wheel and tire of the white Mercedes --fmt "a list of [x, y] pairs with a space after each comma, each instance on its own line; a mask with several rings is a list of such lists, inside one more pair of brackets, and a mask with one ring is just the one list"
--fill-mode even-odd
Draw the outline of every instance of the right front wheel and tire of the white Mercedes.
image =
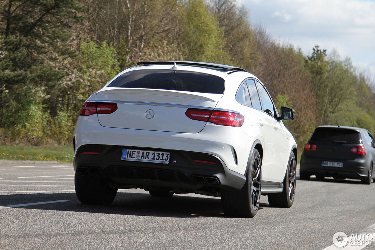
[[290, 154], [287, 172], [284, 178], [284, 189], [282, 193], [268, 194], [268, 203], [272, 207], [290, 208], [294, 202], [296, 194], [296, 156]]

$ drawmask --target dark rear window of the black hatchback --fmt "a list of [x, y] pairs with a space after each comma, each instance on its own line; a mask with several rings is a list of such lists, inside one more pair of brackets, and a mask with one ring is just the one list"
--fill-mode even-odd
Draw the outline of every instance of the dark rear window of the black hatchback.
[[310, 140], [315, 142], [361, 143], [361, 134], [358, 131], [345, 128], [316, 128]]

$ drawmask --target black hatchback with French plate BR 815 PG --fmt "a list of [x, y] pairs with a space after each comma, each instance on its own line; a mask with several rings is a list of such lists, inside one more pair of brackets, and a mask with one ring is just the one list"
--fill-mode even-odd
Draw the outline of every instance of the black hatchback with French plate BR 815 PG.
[[375, 140], [364, 128], [320, 126], [312, 133], [302, 152], [300, 179], [333, 177], [375, 180], [373, 165]]

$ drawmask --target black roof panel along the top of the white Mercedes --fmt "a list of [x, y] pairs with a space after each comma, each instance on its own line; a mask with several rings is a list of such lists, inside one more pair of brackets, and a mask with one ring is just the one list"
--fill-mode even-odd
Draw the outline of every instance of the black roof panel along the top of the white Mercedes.
[[217, 63], [205, 63], [205, 62], [188, 62], [188, 61], [149, 61], [149, 62], [135, 62], [137, 65], [162, 65], [162, 64], [170, 64], [174, 65], [189, 65], [189, 66], [199, 66], [204, 68], [216, 69], [222, 72], [233, 72], [233, 71], [246, 71], [246, 69], [238, 68], [234, 66], [224, 65], [224, 64], [217, 64]]

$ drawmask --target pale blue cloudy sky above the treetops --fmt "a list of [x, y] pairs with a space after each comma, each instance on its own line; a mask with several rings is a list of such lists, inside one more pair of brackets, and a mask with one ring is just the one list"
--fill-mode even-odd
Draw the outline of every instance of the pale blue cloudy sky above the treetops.
[[237, 0], [273, 38], [300, 47], [319, 45], [375, 78], [375, 0]]

